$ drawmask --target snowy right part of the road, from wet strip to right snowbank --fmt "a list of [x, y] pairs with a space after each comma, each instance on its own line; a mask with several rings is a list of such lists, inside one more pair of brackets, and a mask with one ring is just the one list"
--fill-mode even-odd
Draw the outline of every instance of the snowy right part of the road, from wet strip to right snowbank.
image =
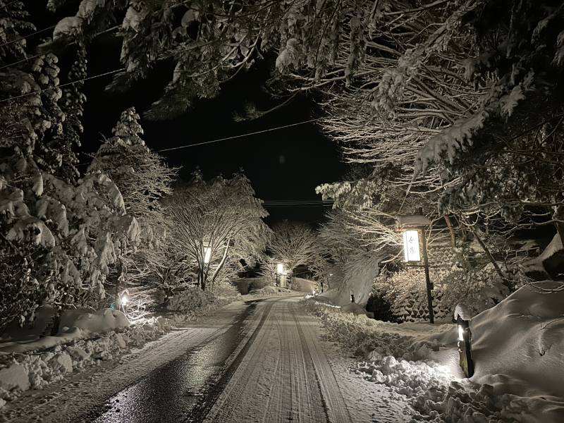
[[321, 339], [319, 322], [297, 299], [259, 305], [235, 356], [241, 351], [243, 357], [206, 422], [409, 419], [405, 400], [350, 374], [353, 360]]

